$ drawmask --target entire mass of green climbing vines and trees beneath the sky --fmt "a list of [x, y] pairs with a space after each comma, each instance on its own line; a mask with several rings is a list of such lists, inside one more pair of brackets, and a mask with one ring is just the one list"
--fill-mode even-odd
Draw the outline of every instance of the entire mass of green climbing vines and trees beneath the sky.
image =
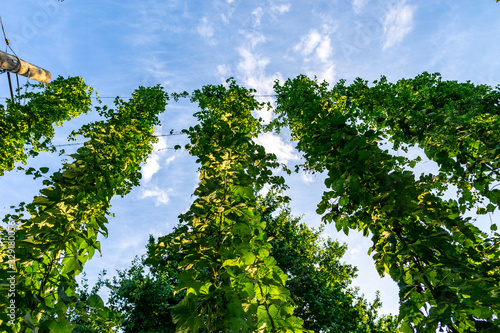
[[[500, 235], [496, 224], [485, 233], [468, 216], [500, 204], [500, 91], [427, 73], [332, 88], [299, 76], [275, 90], [278, 118], [267, 129], [289, 126], [305, 157], [300, 167], [327, 173], [323, 221], [371, 237], [379, 273], [400, 288], [401, 329], [498, 332]], [[0, 174], [53, 150], [52, 126], [88, 112], [90, 92], [79, 78], [60, 78], [26, 94], [26, 105], [2, 106]], [[0, 295], [0, 329], [397, 330], [394, 318], [377, 315], [378, 299], [370, 305], [349, 289], [355, 270], [340, 264], [343, 246], [321, 243], [319, 231], [281, 209], [285, 197], [259, 200], [264, 186], [286, 186], [276, 156], [253, 140], [264, 127], [252, 112], [265, 107], [253, 93], [230, 80], [192, 95], [199, 125], [184, 133], [200, 163], [195, 200], [173, 233], [150, 242], [146, 261], [100, 281], [112, 290], [111, 308], [77, 292], [75, 277], [99, 251], [97, 235], [107, 235], [111, 198], [139, 185], [168, 98], [158, 86], [140, 87], [115, 109], [98, 107], [105, 120], [73, 133], [88, 140], [72, 161], [3, 219], [0, 283], [15, 285], [15, 297]], [[393, 153], [412, 147], [425, 156]], [[415, 174], [425, 157], [437, 171]], [[28, 172], [41, 177], [48, 168]]]

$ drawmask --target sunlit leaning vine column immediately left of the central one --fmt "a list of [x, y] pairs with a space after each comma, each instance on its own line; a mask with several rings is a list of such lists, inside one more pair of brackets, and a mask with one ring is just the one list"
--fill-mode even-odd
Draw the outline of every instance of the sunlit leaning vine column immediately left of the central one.
[[166, 99], [159, 86], [140, 87], [130, 101], [117, 99], [116, 109], [98, 108], [106, 120], [73, 133], [88, 138], [71, 155], [73, 161], [44, 180], [46, 187], [30, 204], [21, 203], [16, 214], [4, 218], [8, 228], [0, 227], [0, 236], [14, 237], [15, 251], [9, 252], [9, 242], [2, 244], [0, 279], [16, 279], [16, 319], [15, 325], [8, 323], [9, 298], [2, 293], [2, 331], [69, 332], [69, 306], [77, 311], [96, 308], [93, 313], [113, 326], [116, 314], [103, 307], [97, 295], [78, 301], [75, 276], [95, 250], [100, 251], [97, 235], [107, 235], [111, 198], [139, 184], [140, 164], [157, 140], [153, 126]]

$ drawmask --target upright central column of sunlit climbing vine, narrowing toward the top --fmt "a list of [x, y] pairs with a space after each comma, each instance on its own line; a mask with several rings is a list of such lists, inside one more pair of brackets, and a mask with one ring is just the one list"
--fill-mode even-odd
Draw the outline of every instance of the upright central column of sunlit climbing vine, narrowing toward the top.
[[172, 309], [179, 332], [303, 331], [256, 209], [255, 191], [283, 179], [272, 176], [276, 157], [252, 141], [261, 125], [251, 111], [263, 107], [252, 93], [229, 81], [192, 97], [200, 125], [185, 131], [186, 148], [200, 183], [180, 226], [159, 240], [160, 251], [183, 254], [176, 290], [186, 295]]

